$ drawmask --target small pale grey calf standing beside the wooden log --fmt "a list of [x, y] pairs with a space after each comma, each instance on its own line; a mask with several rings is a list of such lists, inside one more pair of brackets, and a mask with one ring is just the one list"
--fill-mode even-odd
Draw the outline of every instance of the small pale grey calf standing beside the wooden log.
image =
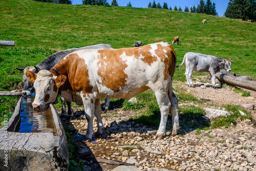
[[215, 87], [215, 74], [222, 69], [230, 72], [230, 67], [233, 61], [231, 59], [222, 59], [216, 56], [188, 52], [184, 55], [181, 65], [177, 66], [176, 68], [182, 66], [184, 62], [186, 66], [185, 75], [187, 79], [187, 85], [189, 87], [194, 86], [192, 81], [193, 71], [210, 73], [212, 87]]

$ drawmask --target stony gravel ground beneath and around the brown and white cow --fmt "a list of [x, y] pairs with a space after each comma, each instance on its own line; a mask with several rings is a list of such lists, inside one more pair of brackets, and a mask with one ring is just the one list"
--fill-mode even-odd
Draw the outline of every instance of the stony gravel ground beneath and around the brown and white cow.
[[[193, 89], [184, 83], [179, 86], [200, 99], [208, 99], [207, 103], [211, 104], [226, 103], [225, 99], [227, 104], [256, 102], [255, 97], [244, 98], [228, 88], [212, 89], [206, 84], [205, 88]], [[157, 127], [134, 126], [126, 120], [136, 111], [122, 111], [112, 106], [112, 110], [102, 112], [103, 135], [86, 143], [83, 138], [87, 121], [79, 112], [83, 109], [76, 110], [69, 130], [73, 145], [80, 147], [77, 157], [87, 164], [85, 170], [106, 171], [118, 165], [135, 165], [141, 170], [256, 170], [256, 126], [251, 120], [238, 120], [237, 125], [228, 128], [201, 132], [188, 128], [182, 130], [186, 134], [175, 137], [167, 132], [164, 139], [156, 140]], [[255, 110], [251, 112], [255, 114]], [[96, 123], [95, 118], [94, 132]]]

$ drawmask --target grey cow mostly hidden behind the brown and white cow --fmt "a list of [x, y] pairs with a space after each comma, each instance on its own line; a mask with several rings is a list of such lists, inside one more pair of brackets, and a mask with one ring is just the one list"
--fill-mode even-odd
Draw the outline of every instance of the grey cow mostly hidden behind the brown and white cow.
[[[113, 48], [111, 45], [108, 45], [108, 44], [98, 44], [98, 45], [87, 46], [87, 47], [82, 47], [82, 48], [73, 48], [73, 49], [58, 51], [58, 52], [52, 54], [47, 59], [45, 59], [44, 61], [41, 61], [40, 63], [38, 63], [36, 66], [28, 66], [25, 69], [16, 68], [17, 70], [24, 72], [24, 75], [23, 75], [24, 87], [23, 87], [22, 95], [30, 96], [31, 94], [35, 93], [34, 84], [31, 83], [30, 80], [26, 77], [26, 75], [25, 75], [26, 71], [32, 71], [33, 73], [38, 73], [40, 70], [50, 70], [63, 57], [65, 57], [66, 55], [68, 55], [74, 51], [81, 50], [81, 49], [113, 49]], [[66, 112], [66, 101], [62, 97], [60, 97], [60, 100], [62, 103], [61, 113], [66, 114], [67, 113]], [[106, 99], [105, 103], [103, 105], [103, 108], [105, 110], [107, 110], [109, 108], [109, 103], [110, 103], [110, 99]], [[68, 105], [68, 115], [73, 115], [71, 103], [67, 101], [67, 105]]]

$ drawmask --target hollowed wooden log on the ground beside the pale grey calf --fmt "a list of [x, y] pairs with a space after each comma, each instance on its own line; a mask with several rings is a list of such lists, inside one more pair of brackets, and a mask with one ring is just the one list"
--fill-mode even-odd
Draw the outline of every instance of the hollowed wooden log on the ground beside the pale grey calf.
[[221, 70], [221, 72], [216, 73], [216, 78], [220, 81], [232, 84], [233, 86], [256, 91], [256, 79], [252, 79], [249, 76], [242, 76], [236, 73]]

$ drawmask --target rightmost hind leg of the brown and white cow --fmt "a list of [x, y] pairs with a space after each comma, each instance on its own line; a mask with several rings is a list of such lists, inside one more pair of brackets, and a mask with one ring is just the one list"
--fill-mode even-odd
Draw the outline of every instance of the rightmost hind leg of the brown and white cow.
[[[169, 89], [170, 90], [170, 89]], [[178, 98], [175, 96], [175, 92], [170, 92], [170, 115], [172, 115], [173, 120], [173, 131], [172, 136], [176, 136], [178, 134], [178, 130], [180, 129], [179, 123], [179, 109], [178, 109]]]

